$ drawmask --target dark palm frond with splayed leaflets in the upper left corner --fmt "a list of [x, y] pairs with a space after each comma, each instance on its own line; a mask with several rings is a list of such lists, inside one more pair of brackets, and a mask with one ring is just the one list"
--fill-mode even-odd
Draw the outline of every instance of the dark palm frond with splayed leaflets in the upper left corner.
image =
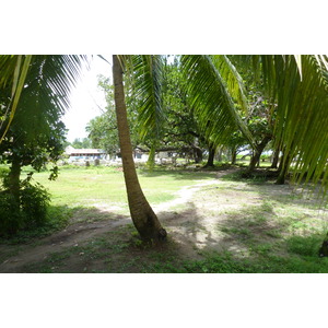
[[[69, 107], [70, 90], [79, 79], [82, 63], [87, 62], [87, 58], [82, 55], [24, 56], [21, 75], [25, 73], [25, 79], [17, 82], [15, 82], [16, 73], [12, 63], [14, 58], [11, 56], [0, 58], [0, 67], [5, 74], [5, 79], [1, 80], [2, 86], [12, 83], [21, 87], [21, 93], [17, 90], [10, 102], [24, 112], [26, 132], [33, 138], [42, 128], [49, 129], [48, 125], [45, 124], [47, 121], [47, 110], [51, 112], [51, 108], [56, 108], [58, 114], [61, 115]], [[7, 130], [11, 121], [15, 124], [14, 109], [15, 107], [11, 108]], [[22, 122], [20, 119], [16, 124], [19, 121]]]

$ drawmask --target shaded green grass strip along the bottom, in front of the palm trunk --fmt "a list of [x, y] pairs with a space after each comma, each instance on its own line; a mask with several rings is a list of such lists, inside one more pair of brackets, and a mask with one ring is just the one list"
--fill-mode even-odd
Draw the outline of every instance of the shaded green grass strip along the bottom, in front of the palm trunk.
[[[317, 254], [320, 235], [290, 236], [283, 242], [284, 256], [272, 243], [249, 243], [249, 254], [200, 251], [202, 260], [179, 254], [168, 238], [161, 248], [137, 243], [131, 226], [120, 227], [83, 245], [52, 253], [45, 260], [23, 268], [23, 272], [143, 272], [143, 273], [328, 273], [328, 258]], [[72, 262], [75, 271], [72, 271]], [[101, 263], [96, 268], [95, 263]], [[68, 270], [67, 267], [70, 267]]]

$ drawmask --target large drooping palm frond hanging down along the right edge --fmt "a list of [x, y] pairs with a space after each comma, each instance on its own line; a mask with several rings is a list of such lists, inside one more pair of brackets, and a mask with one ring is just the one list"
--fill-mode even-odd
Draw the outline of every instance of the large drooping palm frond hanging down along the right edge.
[[328, 189], [327, 56], [255, 56], [277, 102], [274, 139], [293, 162], [294, 180], [321, 180]]

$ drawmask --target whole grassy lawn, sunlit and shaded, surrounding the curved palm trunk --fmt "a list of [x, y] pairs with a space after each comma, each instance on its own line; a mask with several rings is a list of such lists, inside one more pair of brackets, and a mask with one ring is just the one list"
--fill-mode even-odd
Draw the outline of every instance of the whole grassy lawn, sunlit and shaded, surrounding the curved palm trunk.
[[[118, 168], [67, 168], [56, 181], [46, 172], [35, 174], [54, 196], [52, 216], [80, 220], [70, 219], [45, 238], [36, 232], [15, 245], [0, 244], [0, 272], [12, 259], [22, 261], [14, 272], [328, 273], [328, 258], [318, 256], [328, 230], [327, 202], [272, 180], [216, 176], [139, 171], [152, 204], [174, 199], [184, 187], [197, 188], [186, 202], [157, 213], [168, 238], [155, 246], [143, 245], [129, 220], [115, 227], [108, 223], [128, 214]], [[200, 183], [208, 184], [197, 187]]]

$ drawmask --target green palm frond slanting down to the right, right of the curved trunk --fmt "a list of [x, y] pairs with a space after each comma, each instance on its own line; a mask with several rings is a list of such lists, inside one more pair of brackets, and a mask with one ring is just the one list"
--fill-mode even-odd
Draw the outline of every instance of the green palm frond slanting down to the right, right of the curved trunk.
[[249, 143], [255, 141], [236, 110], [220, 71], [209, 56], [184, 55], [181, 68], [188, 81], [190, 105], [208, 140], [222, 144], [238, 127]]

